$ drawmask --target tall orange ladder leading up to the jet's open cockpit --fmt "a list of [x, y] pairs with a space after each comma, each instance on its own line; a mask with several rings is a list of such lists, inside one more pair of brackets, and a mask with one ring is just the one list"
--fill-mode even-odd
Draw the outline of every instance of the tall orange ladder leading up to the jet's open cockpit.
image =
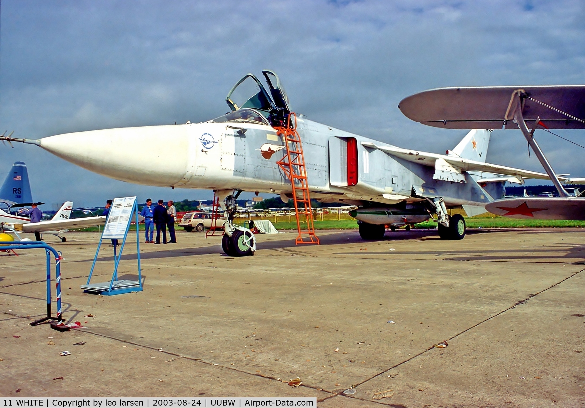
[[[291, 123], [291, 117], [294, 118], [293, 123]], [[305, 158], [302, 154], [301, 137], [297, 132], [297, 115], [291, 112], [288, 115], [287, 127], [279, 126], [274, 129], [283, 136], [287, 147], [287, 154], [281, 160], [278, 160], [277, 164], [283, 169], [285, 176], [291, 181], [292, 185], [292, 200], [297, 216], [298, 229], [295, 244], [319, 245], [319, 237], [315, 235], [315, 226], [313, 224], [313, 211], [311, 209], [311, 197], [309, 196]], [[305, 215], [306, 230], [301, 229], [301, 215]]]

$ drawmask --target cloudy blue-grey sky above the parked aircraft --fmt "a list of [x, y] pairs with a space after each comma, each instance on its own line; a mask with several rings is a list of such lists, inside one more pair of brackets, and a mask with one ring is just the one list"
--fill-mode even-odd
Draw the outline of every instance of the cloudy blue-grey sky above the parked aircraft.
[[[2, 0], [0, 24], [0, 132], [33, 139], [208, 120], [227, 112], [240, 77], [269, 68], [310, 119], [442, 153], [466, 132], [411, 122], [402, 98], [449, 86], [585, 84], [580, 0]], [[585, 151], [541, 133], [555, 171], [585, 177]], [[585, 143], [585, 132], [559, 133]], [[36, 146], [0, 146], [0, 179], [16, 160], [46, 203], [212, 197], [108, 179]], [[542, 171], [518, 130], [495, 131], [487, 160]]]

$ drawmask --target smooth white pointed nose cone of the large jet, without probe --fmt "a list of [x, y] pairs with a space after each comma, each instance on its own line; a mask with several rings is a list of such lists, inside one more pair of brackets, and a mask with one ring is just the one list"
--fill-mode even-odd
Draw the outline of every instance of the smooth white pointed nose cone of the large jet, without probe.
[[92, 172], [153, 186], [171, 186], [185, 175], [185, 126], [168, 125], [91, 130], [45, 137], [40, 147]]

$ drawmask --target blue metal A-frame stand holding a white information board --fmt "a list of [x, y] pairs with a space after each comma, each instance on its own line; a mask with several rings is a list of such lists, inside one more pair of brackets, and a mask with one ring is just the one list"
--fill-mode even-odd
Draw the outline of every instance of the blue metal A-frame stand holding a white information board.
[[[126, 208], [126, 213], [129, 210], [129, 203], [130, 200], [133, 199], [132, 210], [130, 211], [129, 216], [126, 216], [122, 213], [121, 215], [112, 215], [113, 210], [118, 211], [121, 207]], [[118, 230], [120, 227], [123, 227], [123, 222], [126, 221], [125, 231], [123, 234], [119, 233], [116, 234], [116, 231], [112, 232], [112, 228], [108, 228], [108, 222], [110, 222], [110, 216], [117, 217], [113, 222], [116, 223], [113, 228], [117, 227]], [[124, 249], [124, 244], [126, 243], [126, 237], [128, 236], [128, 231], [130, 229], [130, 222], [132, 221], [132, 215], [135, 215], [136, 219], [136, 253], [138, 259], [138, 280], [137, 281], [128, 281], [126, 279], [119, 280], [118, 279], [118, 266], [120, 264], [120, 260], [122, 258], [122, 251]], [[142, 274], [140, 274], [140, 236], [139, 236], [139, 228], [138, 228], [138, 204], [136, 202], [136, 197], [128, 197], [128, 198], [116, 198], [112, 204], [112, 210], [108, 213], [108, 219], [106, 220], [106, 225], [104, 227], [104, 232], [102, 236], [99, 238], [98, 249], [95, 251], [94, 263], [91, 265], [90, 275], [87, 278], [87, 284], [82, 285], [81, 289], [83, 289], [86, 293], [93, 293], [95, 295], [121, 295], [122, 293], [129, 293], [129, 292], [140, 292], [142, 291]], [[102, 240], [104, 240], [104, 236], [107, 238], [111, 238], [115, 245], [113, 246], [113, 274], [112, 279], [109, 282], [101, 282], [101, 283], [90, 283], [91, 275], [94, 273], [95, 262], [98, 260], [99, 255], [99, 248], [102, 246]], [[122, 239], [122, 245], [120, 246], [120, 251], [116, 254], [116, 247], [118, 239]]]

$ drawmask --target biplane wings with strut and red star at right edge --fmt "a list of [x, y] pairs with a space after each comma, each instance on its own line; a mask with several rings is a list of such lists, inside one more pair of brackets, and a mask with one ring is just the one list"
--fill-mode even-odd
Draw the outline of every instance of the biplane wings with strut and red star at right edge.
[[538, 128], [585, 129], [584, 101], [585, 85], [438, 88], [408, 96], [399, 108], [410, 119], [429, 126], [521, 130], [559, 196], [503, 198], [487, 203], [486, 210], [513, 218], [585, 220], [583, 193], [574, 188], [570, 195], [562, 185], [585, 179], [556, 175], [534, 137]]

